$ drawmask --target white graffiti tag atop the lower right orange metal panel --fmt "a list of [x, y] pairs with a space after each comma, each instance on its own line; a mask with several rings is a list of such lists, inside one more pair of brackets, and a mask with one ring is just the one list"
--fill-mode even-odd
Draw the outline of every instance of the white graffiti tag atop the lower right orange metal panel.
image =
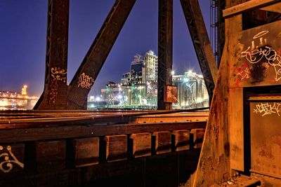
[[255, 113], [261, 113], [261, 116], [276, 114], [280, 116], [281, 113], [281, 104], [280, 103], [260, 103], [256, 104], [256, 109], [254, 109]]

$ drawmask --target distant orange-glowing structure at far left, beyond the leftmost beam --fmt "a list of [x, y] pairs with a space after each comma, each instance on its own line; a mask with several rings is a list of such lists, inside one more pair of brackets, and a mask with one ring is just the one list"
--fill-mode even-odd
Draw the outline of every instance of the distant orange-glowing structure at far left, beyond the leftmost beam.
[[27, 95], [27, 85], [22, 87], [21, 93], [0, 90], [0, 110], [33, 109], [38, 99], [36, 96]]

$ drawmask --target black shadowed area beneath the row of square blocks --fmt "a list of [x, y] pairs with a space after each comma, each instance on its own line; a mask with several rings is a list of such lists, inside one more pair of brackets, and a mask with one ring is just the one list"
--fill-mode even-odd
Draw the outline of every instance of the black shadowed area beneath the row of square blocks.
[[[200, 149], [53, 172], [14, 172], [0, 186], [191, 186]], [[16, 179], [16, 180], [15, 180]]]

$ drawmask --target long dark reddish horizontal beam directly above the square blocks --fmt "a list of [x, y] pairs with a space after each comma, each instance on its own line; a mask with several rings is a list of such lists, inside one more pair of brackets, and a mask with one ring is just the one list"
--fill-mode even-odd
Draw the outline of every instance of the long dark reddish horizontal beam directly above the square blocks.
[[0, 143], [36, 141], [39, 139], [60, 139], [79, 137], [101, 137], [114, 134], [133, 134], [141, 132], [157, 132], [159, 130], [191, 130], [206, 127], [206, 121], [184, 123], [146, 123], [123, 125], [60, 125], [53, 127], [33, 127], [22, 129], [0, 130]]

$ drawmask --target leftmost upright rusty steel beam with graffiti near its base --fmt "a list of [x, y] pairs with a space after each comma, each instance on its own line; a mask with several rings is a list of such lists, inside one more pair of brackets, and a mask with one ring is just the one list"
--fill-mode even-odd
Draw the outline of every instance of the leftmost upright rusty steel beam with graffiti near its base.
[[44, 92], [34, 109], [66, 109], [69, 0], [48, 0]]

